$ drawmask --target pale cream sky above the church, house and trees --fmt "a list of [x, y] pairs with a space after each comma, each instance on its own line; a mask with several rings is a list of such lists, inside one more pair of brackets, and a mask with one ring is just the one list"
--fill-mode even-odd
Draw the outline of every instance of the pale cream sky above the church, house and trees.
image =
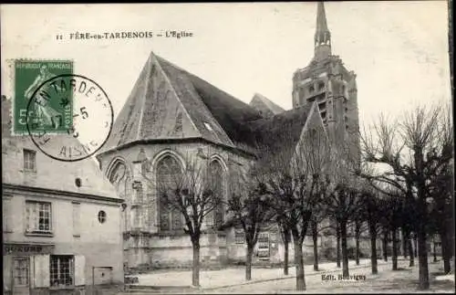
[[[325, 4], [332, 52], [357, 73], [361, 124], [451, 101], [446, 1]], [[115, 116], [150, 52], [248, 103], [289, 110], [292, 77], [314, 54], [316, 3], [1, 5], [2, 94], [9, 60], [72, 59], [107, 92]], [[69, 39], [76, 33], [167, 30], [182, 38]], [[63, 39], [57, 39], [62, 35]]]

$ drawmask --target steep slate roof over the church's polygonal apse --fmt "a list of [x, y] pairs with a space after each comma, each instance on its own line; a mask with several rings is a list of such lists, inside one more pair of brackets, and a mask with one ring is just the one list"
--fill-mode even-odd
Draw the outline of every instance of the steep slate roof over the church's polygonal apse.
[[[275, 111], [283, 112], [265, 118], [252, 106], [152, 52], [113, 125], [103, 153], [127, 143], [166, 139], [154, 137], [150, 132], [155, 128], [149, 111], [156, 103], [155, 86], [150, 82], [153, 75], [162, 75], [169, 83], [196, 128], [195, 138], [249, 153], [256, 153], [264, 144], [278, 144], [277, 149], [293, 145], [306, 123], [310, 108], [283, 111], [277, 106]], [[212, 131], [204, 123], [210, 123]], [[271, 142], [273, 139], [275, 142]]]

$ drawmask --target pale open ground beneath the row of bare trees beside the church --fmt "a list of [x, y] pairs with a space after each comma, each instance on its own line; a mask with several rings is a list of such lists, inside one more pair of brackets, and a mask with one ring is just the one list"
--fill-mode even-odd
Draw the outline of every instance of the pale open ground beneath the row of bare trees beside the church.
[[[418, 266], [409, 268], [409, 261], [399, 260], [399, 270], [391, 270], [391, 261], [379, 260], [378, 275], [370, 274], [370, 262], [361, 260], [359, 266], [349, 262], [350, 275], [366, 276], [355, 281], [338, 280], [335, 262], [322, 263], [319, 272], [313, 266], [306, 266], [306, 292], [309, 293], [358, 293], [358, 292], [418, 292]], [[442, 262], [430, 262], [430, 290], [427, 292], [454, 292], [454, 275], [437, 280]], [[323, 280], [322, 275], [334, 275], [337, 280]], [[244, 268], [202, 271], [200, 289], [193, 289], [190, 271], [170, 271], [139, 275], [140, 286], [128, 294], [151, 293], [295, 293], [295, 268], [284, 276], [282, 269], [253, 269], [252, 281], [244, 279]], [[142, 289], [142, 290], [140, 290]]]

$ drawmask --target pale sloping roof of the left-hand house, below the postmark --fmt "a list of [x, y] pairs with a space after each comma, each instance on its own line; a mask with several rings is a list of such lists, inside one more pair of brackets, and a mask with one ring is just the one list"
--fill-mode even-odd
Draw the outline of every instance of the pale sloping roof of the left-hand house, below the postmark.
[[[2, 182], [4, 184], [119, 199], [114, 187], [98, 169], [98, 163], [94, 159], [88, 158], [78, 162], [57, 161], [39, 151], [28, 135], [12, 135], [11, 103], [10, 99], [2, 96], [2, 164], [4, 165]], [[67, 137], [65, 140], [67, 146], [77, 141], [72, 137]], [[27, 174], [23, 171], [23, 149], [36, 151], [36, 173]], [[77, 177], [81, 179], [80, 187], [75, 184]]]

